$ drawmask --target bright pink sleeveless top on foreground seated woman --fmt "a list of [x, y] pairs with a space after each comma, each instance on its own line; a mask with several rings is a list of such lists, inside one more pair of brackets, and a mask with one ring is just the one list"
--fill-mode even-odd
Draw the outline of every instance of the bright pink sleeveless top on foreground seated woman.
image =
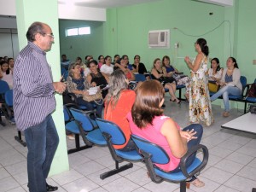
[[[144, 139], [147, 139], [151, 143], [159, 145], [161, 148], [164, 148], [166, 154], [168, 154], [170, 158], [169, 163], [165, 165], [155, 164], [155, 166], [160, 167], [160, 169], [166, 172], [170, 172], [179, 165], [180, 159], [172, 155], [171, 148], [169, 147], [166, 137], [163, 136], [160, 132], [162, 125], [166, 122], [167, 119], [170, 119], [169, 117], [166, 117], [164, 115], [157, 116], [153, 119], [153, 125], [148, 125], [143, 129], [138, 128], [137, 125], [134, 124], [131, 117], [131, 112], [127, 114], [127, 119], [129, 120], [132, 134], [137, 135], [139, 137], [143, 137]], [[179, 125], [177, 125], [177, 123], [176, 126], [177, 129], [180, 130], [180, 127]]]

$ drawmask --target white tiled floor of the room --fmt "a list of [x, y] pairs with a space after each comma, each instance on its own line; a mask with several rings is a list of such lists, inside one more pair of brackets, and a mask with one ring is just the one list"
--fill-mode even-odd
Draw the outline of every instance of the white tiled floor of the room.
[[[167, 97], [166, 100], [166, 115], [182, 127], [188, 125], [188, 103], [178, 106], [168, 102]], [[229, 118], [221, 116], [222, 109], [218, 106], [213, 105], [212, 110], [215, 123], [204, 126], [201, 141], [210, 153], [207, 167], [199, 176], [206, 186], [201, 189], [191, 186], [187, 191], [251, 192], [256, 187], [256, 135], [220, 127], [240, 116], [242, 110], [232, 109]], [[15, 141], [15, 135], [15, 125], [0, 125], [0, 192], [27, 191], [26, 148]], [[67, 146], [73, 148], [74, 141], [67, 140]], [[48, 178], [50, 184], [59, 186], [59, 192], [179, 191], [177, 183], [151, 182], [142, 163], [102, 180], [100, 174], [114, 167], [107, 147], [89, 148], [69, 154], [68, 158], [70, 171]]]

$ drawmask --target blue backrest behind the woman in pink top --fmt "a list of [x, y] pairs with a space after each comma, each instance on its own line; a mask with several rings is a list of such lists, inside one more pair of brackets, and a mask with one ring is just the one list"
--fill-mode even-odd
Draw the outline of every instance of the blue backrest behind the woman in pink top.
[[166, 164], [170, 161], [168, 154], [166, 154], [166, 151], [160, 146], [133, 134], [131, 135], [131, 138], [140, 151], [151, 154], [151, 160], [153, 163]]

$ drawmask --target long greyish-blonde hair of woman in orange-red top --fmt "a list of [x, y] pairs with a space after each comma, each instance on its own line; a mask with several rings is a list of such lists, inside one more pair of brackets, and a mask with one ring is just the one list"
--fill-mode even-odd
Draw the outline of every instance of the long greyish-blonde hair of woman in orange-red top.
[[108, 95], [105, 97], [105, 107], [108, 108], [108, 105], [111, 104], [111, 107], [115, 108], [119, 101], [121, 91], [126, 90], [128, 86], [125, 73], [120, 69], [113, 71], [109, 78], [108, 85], [109, 88]]

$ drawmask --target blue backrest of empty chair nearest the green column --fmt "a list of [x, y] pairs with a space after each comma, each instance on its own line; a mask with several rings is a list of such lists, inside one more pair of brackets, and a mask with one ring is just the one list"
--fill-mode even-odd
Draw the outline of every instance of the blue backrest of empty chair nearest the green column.
[[90, 116], [86, 112], [76, 108], [70, 108], [69, 110], [73, 118], [81, 123], [84, 131], [92, 131], [96, 128], [96, 121], [90, 119]]

